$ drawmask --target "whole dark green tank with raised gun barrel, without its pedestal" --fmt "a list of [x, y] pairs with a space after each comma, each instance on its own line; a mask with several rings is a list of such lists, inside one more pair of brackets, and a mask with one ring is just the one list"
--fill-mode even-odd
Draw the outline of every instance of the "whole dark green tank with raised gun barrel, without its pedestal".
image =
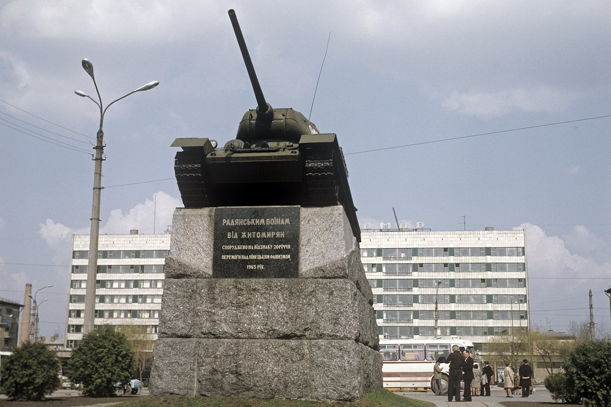
[[320, 134], [300, 112], [273, 109], [257, 79], [240, 24], [229, 10], [256, 109], [244, 113], [235, 139], [176, 139], [174, 170], [185, 207], [335, 206], [341, 204], [354, 237], [360, 228], [348, 170], [335, 134]]

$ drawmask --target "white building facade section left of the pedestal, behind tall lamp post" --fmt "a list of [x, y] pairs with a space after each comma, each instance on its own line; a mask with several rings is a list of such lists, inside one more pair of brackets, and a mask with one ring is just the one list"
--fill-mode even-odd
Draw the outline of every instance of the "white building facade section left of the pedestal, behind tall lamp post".
[[[137, 325], [157, 339], [170, 234], [105, 234], [98, 243], [95, 325]], [[89, 235], [72, 236], [66, 347], [82, 338]]]

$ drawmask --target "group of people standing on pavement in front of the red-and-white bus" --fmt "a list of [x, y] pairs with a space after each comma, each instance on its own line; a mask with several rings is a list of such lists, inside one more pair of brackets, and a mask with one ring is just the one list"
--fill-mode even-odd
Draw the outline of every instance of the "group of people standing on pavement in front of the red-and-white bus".
[[[455, 398], [455, 402], [470, 402], [472, 396], [490, 395], [490, 385], [494, 384], [494, 372], [490, 367], [489, 362], [484, 361], [483, 369], [480, 369], [477, 363], [474, 362], [469, 350], [464, 349], [461, 353], [461, 349], [458, 345], [452, 346], [452, 353], [447, 359], [439, 358], [435, 362], [433, 367], [433, 380], [436, 382], [436, 394], [441, 395], [442, 393], [442, 369], [441, 363], [450, 364], [450, 373], [448, 375], [448, 402], [452, 402], [452, 398]], [[522, 397], [529, 397], [532, 368], [529, 366], [526, 359], [524, 364], [520, 366], [518, 371], [519, 386], [522, 387]], [[513, 369], [511, 369], [511, 363], [506, 364], [505, 367], [505, 391], [507, 391], [507, 397], [513, 397], [510, 394], [511, 389], [514, 387], [514, 375]], [[461, 400], [461, 381], [464, 382], [463, 398]], [[515, 384], [518, 386], [518, 384]]]

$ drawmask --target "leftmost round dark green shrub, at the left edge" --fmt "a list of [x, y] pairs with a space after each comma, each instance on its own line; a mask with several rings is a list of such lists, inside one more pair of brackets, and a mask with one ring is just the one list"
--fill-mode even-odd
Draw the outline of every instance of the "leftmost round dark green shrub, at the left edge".
[[40, 342], [23, 344], [2, 363], [0, 382], [11, 400], [39, 402], [59, 386], [60, 364]]

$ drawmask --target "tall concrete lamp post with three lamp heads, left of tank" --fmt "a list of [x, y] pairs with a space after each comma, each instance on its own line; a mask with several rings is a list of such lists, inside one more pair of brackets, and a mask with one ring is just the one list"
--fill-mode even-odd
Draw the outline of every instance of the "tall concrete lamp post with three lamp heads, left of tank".
[[95, 319], [95, 279], [97, 277], [98, 271], [98, 236], [100, 234], [100, 192], [102, 190], [102, 161], [104, 160], [104, 131], [102, 130], [102, 126], [104, 124], [104, 114], [113, 103], [120, 101], [121, 99], [126, 98], [127, 96], [130, 96], [132, 93], [152, 89], [159, 85], [159, 81], [148, 82], [148, 84], [142, 85], [136, 90], [133, 90], [130, 93], [121, 96], [119, 99], [115, 99], [105, 108], [103, 108], [102, 98], [100, 96], [100, 91], [98, 90], [98, 84], [95, 82], [95, 76], [93, 76], [93, 63], [91, 63], [89, 59], [85, 58], [81, 61], [81, 65], [82, 68], [87, 72], [87, 74], [89, 74], [89, 76], [93, 80], [95, 92], [98, 94], [98, 101], [100, 101], [100, 103], [98, 103], [98, 101], [87, 95], [87, 93], [82, 92], [82, 90], [75, 90], [76, 95], [82, 96], [83, 98], [91, 99], [93, 103], [97, 104], [98, 108], [100, 108], [100, 128], [98, 129], [95, 146], [93, 147], [93, 149], [95, 149], [95, 155], [93, 156], [95, 166], [93, 168], [93, 200], [91, 205], [89, 261], [87, 262], [87, 286], [85, 292], [85, 312], [83, 325], [83, 333], [86, 334], [93, 330], [93, 322]]

